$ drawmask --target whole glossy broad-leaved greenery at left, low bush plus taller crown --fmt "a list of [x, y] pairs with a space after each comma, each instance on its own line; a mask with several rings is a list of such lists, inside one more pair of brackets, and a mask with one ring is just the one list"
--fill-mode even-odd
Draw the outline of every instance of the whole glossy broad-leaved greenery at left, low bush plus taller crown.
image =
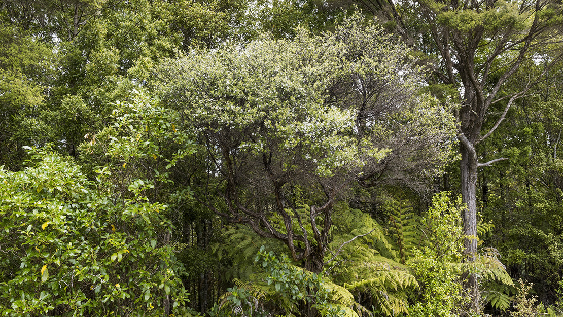
[[23, 171], [0, 167], [1, 314], [190, 311], [161, 192], [192, 143], [155, 99], [113, 106], [114, 125], [82, 145], [89, 166], [28, 148]]

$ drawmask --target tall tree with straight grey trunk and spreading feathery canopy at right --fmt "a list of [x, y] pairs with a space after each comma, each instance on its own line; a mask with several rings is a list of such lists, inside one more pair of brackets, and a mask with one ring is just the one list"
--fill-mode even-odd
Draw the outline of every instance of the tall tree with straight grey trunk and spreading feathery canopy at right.
[[[378, 16], [388, 29], [428, 57], [432, 70], [430, 83], [451, 85], [459, 91], [456, 116], [461, 141], [461, 192], [467, 208], [463, 212], [466, 255], [475, 260], [477, 244], [477, 204], [475, 184], [480, 167], [504, 158], [479, 162], [475, 146], [488, 138], [513, 102], [524, 96], [547, 70], [560, 61], [553, 55], [537, 77], [526, 79], [522, 90], [503, 93], [507, 80], [526, 60], [534, 60], [542, 50], [555, 50], [560, 42], [561, 6], [555, 1], [366, 1], [359, 2]], [[554, 44], [555, 46], [553, 46]], [[494, 113], [503, 105], [500, 113]], [[488, 131], [485, 122], [494, 120]], [[467, 288], [475, 297], [478, 285], [470, 275]]]

